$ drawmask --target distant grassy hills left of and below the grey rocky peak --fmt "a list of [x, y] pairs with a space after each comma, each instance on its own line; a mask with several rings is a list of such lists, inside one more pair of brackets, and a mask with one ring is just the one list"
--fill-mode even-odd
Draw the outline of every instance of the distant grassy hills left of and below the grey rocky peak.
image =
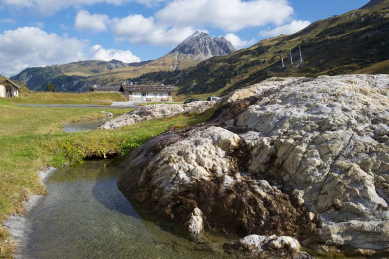
[[91, 85], [120, 85], [129, 78], [156, 71], [187, 69], [200, 63], [194, 55], [169, 53], [153, 61], [124, 64], [121, 61], [79, 61], [64, 65], [28, 68], [11, 79], [31, 90], [44, 91], [51, 82], [57, 92], [87, 92]]

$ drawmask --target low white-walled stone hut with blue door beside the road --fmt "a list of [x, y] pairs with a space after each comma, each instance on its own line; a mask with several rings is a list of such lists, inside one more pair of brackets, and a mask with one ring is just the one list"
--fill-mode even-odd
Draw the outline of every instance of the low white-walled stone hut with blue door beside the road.
[[171, 102], [171, 93], [175, 92], [171, 85], [122, 85], [120, 92], [128, 101], [133, 102]]

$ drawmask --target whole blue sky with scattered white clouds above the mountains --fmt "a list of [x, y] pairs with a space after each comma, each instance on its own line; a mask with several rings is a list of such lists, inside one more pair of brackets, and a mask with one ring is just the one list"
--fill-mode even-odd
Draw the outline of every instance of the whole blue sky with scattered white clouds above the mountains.
[[80, 60], [159, 58], [203, 31], [236, 48], [369, 0], [0, 0], [0, 74]]

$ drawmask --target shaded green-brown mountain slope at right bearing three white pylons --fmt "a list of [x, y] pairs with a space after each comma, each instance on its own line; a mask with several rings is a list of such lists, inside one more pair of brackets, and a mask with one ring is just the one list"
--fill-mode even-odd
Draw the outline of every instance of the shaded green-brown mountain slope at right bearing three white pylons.
[[[181, 87], [178, 99], [183, 99], [188, 73], [190, 92], [198, 97], [225, 94], [271, 76], [337, 75], [364, 68], [370, 68], [369, 73], [389, 73], [383, 62], [389, 59], [388, 43], [389, 0], [373, 0], [361, 9], [317, 21], [295, 34], [263, 40], [188, 70], [146, 74], [134, 80], [176, 84]], [[303, 62], [299, 61], [299, 46]]]

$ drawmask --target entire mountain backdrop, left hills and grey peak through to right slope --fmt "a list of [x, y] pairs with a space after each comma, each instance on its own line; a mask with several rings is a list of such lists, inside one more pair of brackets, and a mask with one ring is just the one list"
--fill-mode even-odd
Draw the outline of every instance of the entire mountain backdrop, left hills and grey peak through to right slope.
[[60, 91], [73, 92], [85, 91], [88, 84], [113, 85], [129, 79], [175, 84], [180, 100], [185, 98], [187, 76], [190, 93], [204, 97], [226, 94], [272, 76], [389, 73], [388, 44], [389, 0], [371, 0], [360, 9], [238, 51], [222, 37], [212, 39], [196, 32], [165, 56], [143, 64], [82, 61], [31, 68], [11, 78], [25, 81], [33, 90], [45, 89], [52, 81]]

